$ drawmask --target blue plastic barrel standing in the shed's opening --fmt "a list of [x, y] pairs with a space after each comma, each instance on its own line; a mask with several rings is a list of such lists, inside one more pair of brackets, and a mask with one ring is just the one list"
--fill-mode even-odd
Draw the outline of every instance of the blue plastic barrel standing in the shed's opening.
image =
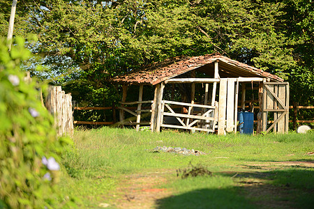
[[248, 111], [238, 111], [238, 130], [240, 134], [253, 134], [254, 114]]

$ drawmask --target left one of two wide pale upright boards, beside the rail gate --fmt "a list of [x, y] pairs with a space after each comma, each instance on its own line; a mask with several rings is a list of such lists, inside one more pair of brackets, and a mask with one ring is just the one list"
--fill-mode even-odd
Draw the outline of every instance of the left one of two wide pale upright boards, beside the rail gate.
[[227, 99], [227, 79], [220, 79], [219, 109], [218, 109], [218, 135], [225, 134], [226, 99]]

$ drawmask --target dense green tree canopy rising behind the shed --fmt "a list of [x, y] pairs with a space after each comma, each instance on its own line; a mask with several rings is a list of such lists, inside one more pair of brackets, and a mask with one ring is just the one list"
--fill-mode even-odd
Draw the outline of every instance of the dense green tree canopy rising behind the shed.
[[[0, 5], [5, 29], [10, 5]], [[95, 104], [116, 91], [107, 77], [213, 52], [283, 77], [293, 102], [313, 104], [313, 14], [308, 0], [21, 0], [15, 34], [38, 35], [29, 47], [47, 68], [33, 74]]]

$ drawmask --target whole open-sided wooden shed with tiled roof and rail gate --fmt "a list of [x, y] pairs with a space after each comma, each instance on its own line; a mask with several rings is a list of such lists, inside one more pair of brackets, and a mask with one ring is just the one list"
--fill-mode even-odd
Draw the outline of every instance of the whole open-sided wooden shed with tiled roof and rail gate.
[[[149, 125], [152, 132], [166, 127], [236, 133], [239, 109], [255, 112], [257, 133], [283, 133], [288, 129], [289, 84], [276, 75], [220, 54], [177, 57], [114, 77], [111, 82], [122, 84], [123, 88], [118, 107], [120, 123], [136, 125], [137, 130], [141, 125]], [[139, 86], [136, 101], [126, 101], [131, 85]], [[150, 100], [142, 100], [144, 86], [154, 88]], [[170, 89], [167, 100], [165, 87]], [[135, 111], [126, 108], [131, 104], [137, 106]], [[149, 108], [143, 109], [144, 104], [150, 104]], [[126, 120], [125, 112], [136, 121]], [[141, 116], [147, 118], [147, 114], [150, 121], [141, 121]]]

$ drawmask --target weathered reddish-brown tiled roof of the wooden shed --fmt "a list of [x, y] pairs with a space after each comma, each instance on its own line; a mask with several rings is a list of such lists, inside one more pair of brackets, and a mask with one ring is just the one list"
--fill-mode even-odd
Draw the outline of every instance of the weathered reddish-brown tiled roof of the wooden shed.
[[[224, 72], [227, 77], [264, 77], [276, 82], [283, 82], [281, 77], [272, 75], [269, 72], [264, 72], [263, 70], [254, 68], [250, 65], [240, 63], [239, 61], [232, 60], [226, 56], [221, 56], [220, 54], [176, 57], [171, 60], [166, 60], [163, 63], [154, 63], [149, 68], [144, 70], [130, 72], [126, 75], [114, 77], [110, 79], [110, 82], [155, 85], [190, 70], [200, 68], [204, 65], [209, 66], [209, 64], [214, 63], [215, 61], [219, 62], [219, 73]], [[211, 68], [212, 67], [210, 66], [208, 68], [204, 68], [202, 69], [202, 72], [207, 73], [209, 71], [213, 71], [214, 68]], [[207, 74], [212, 74], [213, 72]], [[220, 75], [220, 77], [222, 76]]]

